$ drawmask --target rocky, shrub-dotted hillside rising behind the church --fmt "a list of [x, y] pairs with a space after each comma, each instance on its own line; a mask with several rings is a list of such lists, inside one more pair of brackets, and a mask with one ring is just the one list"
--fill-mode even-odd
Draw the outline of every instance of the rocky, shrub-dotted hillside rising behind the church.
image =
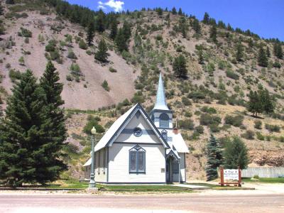
[[[56, 13], [44, 1], [34, 1], [33, 5], [22, 2], [3, 4], [1, 20], [5, 33], [0, 41], [0, 92], [4, 107], [16, 80], [16, 70], [31, 69], [39, 77], [50, 57], [46, 46], [53, 40], [59, 53], [54, 60], [55, 67], [64, 83], [62, 97], [65, 108], [70, 109], [67, 110], [70, 146], [67, 160], [75, 177], [80, 176], [81, 163], [89, 152], [89, 138], [83, 132], [88, 113], [99, 116], [99, 124], [108, 128], [129, 107], [127, 102], [119, 104], [124, 99], [141, 102], [150, 111], [159, 72], [165, 80], [168, 105], [175, 111], [175, 120], [178, 119], [178, 127], [191, 150], [187, 156], [187, 178], [204, 179], [204, 151], [209, 131], [224, 145], [227, 137], [241, 136], [249, 148], [252, 165], [284, 165], [284, 60], [275, 54], [275, 46], [281, 48], [283, 43], [263, 40], [250, 31], [233, 30], [223, 22], [217, 24], [214, 38], [214, 19], [209, 18], [207, 23], [197, 21], [194, 16], [156, 9], [114, 16], [119, 28], [126, 21], [131, 26], [129, 51], [121, 53], [109, 38], [110, 25], [105, 31], [96, 31], [94, 46], [84, 50], [79, 43], [86, 38], [86, 28], [69, 16]], [[21, 28], [31, 31], [31, 38], [18, 36]], [[109, 47], [108, 62], [104, 63], [94, 60], [102, 38]], [[259, 65], [261, 48], [268, 57], [266, 66]], [[70, 52], [77, 59], [70, 58]], [[173, 72], [178, 55], [185, 57], [187, 66], [187, 75], [181, 77]], [[24, 63], [18, 61], [21, 57]], [[80, 67], [79, 74], [71, 74], [72, 64]], [[104, 80], [109, 84], [109, 92], [102, 87]], [[246, 111], [247, 95], [259, 88], [268, 89], [275, 98], [275, 111], [253, 117]], [[116, 105], [111, 107], [112, 104]], [[92, 111], [82, 111], [87, 109]], [[256, 121], [261, 121], [260, 127], [255, 127]]]

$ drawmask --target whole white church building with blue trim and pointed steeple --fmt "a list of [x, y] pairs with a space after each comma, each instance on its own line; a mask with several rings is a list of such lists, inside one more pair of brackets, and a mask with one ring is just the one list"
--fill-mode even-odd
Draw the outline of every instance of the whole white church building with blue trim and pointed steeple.
[[[148, 115], [136, 104], [119, 117], [94, 147], [96, 182], [185, 182], [188, 148], [173, 128], [173, 111], [165, 100], [162, 75], [155, 107]], [[84, 164], [89, 180], [91, 159]]]

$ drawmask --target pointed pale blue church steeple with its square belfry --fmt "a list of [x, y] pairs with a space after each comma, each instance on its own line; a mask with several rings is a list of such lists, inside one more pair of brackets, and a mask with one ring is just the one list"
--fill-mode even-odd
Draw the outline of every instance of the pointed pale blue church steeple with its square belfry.
[[155, 106], [151, 111], [150, 116], [158, 129], [173, 128], [173, 111], [168, 109], [167, 102], [165, 101], [165, 89], [161, 73], [159, 77], [157, 97], [155, 98]]

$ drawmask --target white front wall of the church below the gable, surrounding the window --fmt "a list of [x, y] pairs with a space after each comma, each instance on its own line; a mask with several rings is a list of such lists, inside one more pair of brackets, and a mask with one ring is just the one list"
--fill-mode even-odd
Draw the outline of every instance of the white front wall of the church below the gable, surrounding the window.
[[143, 144], [146, 151], [146, 173], [129, 173], [129, 150], [136, 143], [113, 143], [109, 147], [109, 183], [164, 183], [165, 148], [162, 144]]

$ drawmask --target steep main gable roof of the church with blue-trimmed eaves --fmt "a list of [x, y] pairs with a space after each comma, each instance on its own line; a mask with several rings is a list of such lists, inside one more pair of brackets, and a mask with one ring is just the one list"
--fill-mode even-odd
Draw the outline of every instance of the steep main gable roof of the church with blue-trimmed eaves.
[[153, 124], [153, 121], [151, 121], [143, 107], [141, 107], [140, 104], [136, 104], [131, 107], [131, 109], [126, 111], [126, 113], [120, 116], [119, 119], [114, 121], [114, 124], [112, 124], [111, 127], [107, 130], [107, 132], [104, 133], [104, 136], [102, 136], [101, 140], [99, 140], [99, 143], [97, 143], [97, 145], [94, 147], [94, 151], [99, 151], [100, 149], [106, 146], [112, 146], [112, 143], [114, 143], [115, 139], [119, 136], [121, 131], [129, 123], [129, 121], [132, 119], [132, 117], [136, 114], [137, 111], [141, 112], [146, 122], [151, 126], [152, 130], [159, 138], [160, 142], [163, 143], [163, 146], [165, 148], [170, 148], [168, 142], [165, 141], [163, 136], [160, 134], [160, 131], [158, 131], [158, 129], [155, 127], [155, 124]]

